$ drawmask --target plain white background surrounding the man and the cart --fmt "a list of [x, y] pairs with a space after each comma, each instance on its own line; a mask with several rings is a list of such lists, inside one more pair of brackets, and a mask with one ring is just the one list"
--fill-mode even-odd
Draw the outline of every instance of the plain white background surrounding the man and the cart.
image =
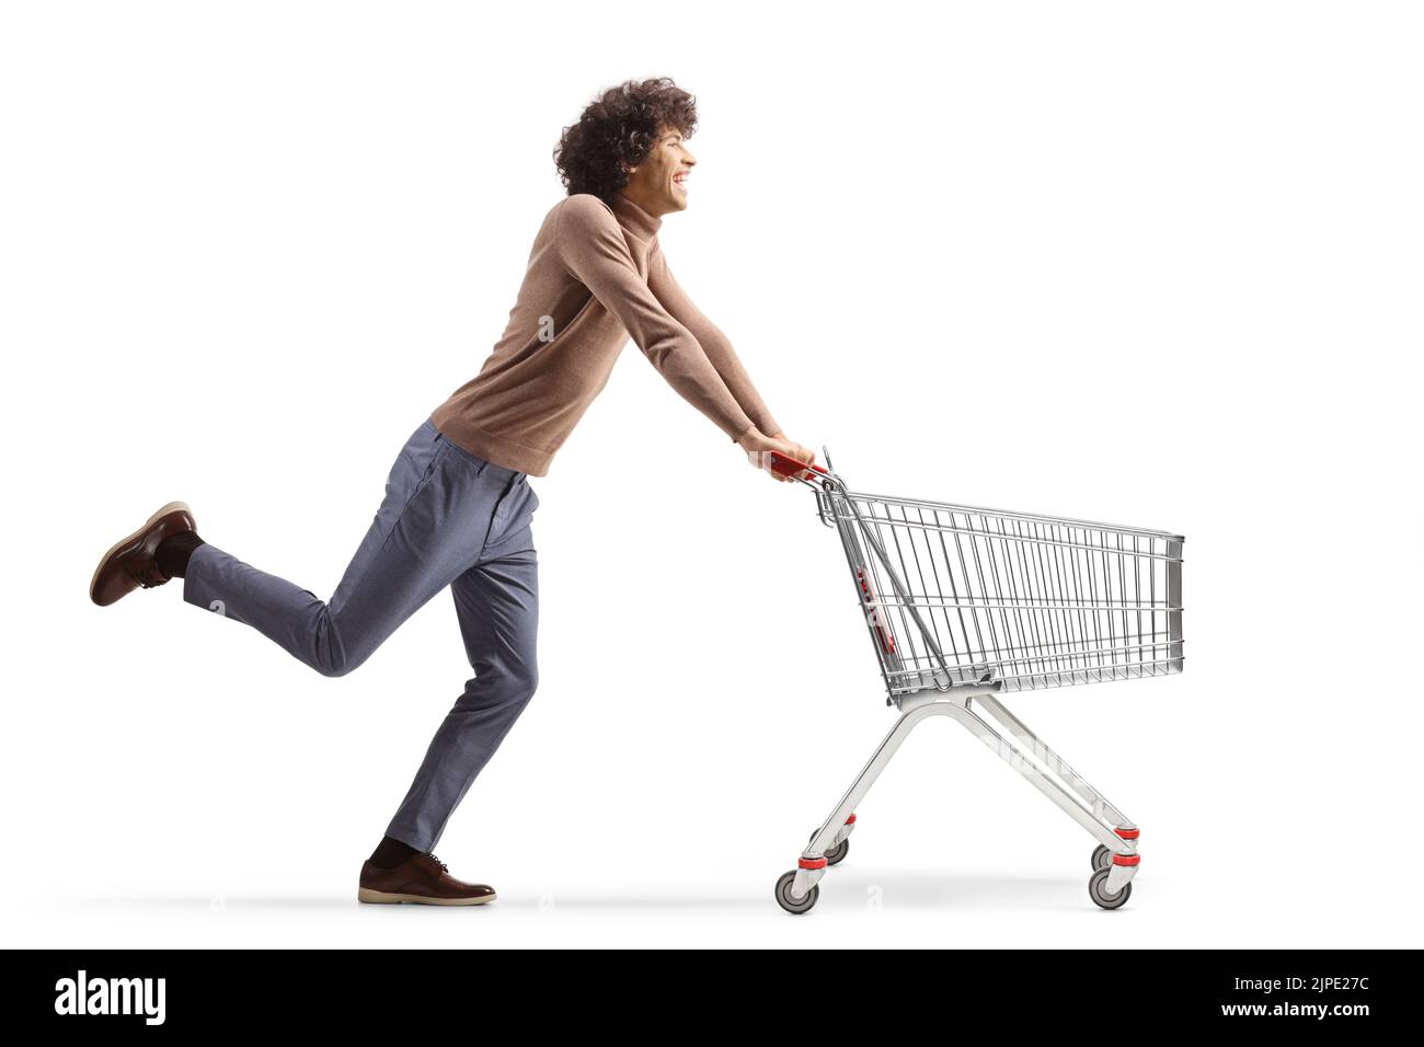
[[[6, 4], [7, 944], [1418, 946], [1410, 4]], [[441, 594], [326, 679], [177, 584], [157, 506], [329, 595], [503, 330], [592, 94], [699, 98], [662, 241], [853, 487], [1186, 536], [1186, 672], [1010, 702], [1092, 840], [894, 714], [834, 531], [635, 346], [533, 479], [541, 688], [437, 846], [356, 879], [470, 674]]]

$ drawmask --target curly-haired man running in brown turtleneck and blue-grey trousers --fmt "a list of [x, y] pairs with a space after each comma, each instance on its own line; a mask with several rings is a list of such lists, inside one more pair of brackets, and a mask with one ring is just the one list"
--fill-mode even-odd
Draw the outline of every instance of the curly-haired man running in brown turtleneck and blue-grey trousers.
[[406, 442], [330, 601], [205, 543], [181, 501], [115, 543], [94, 571], [90, 597], [101, 607], [181, 577], [187, 603], [256, 628], [329, 677], [355, 670], [451, 588], [476, 675], [362, 866], [362, 902], [464, 906], [496, 896], [451, 876], [431, 850], [538, 682], [538, 497], [528, 477], [547, 474], [629, 336], [753, 464], [772, 450], [815, 460], [785, 437], [658, 244], [662, 217], [688, 207], [695, 127], [692, 95], [656, 78], [605, 91], [564, 128], [554, 160], [568, 195], [534, 238], [504, 335]]

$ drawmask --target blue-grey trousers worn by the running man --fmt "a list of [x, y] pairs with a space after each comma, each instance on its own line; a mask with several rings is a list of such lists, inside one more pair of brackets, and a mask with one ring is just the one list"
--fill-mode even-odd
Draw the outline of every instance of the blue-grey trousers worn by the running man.
[[184, 600], [253, 627], [326, 677], [360, 665], [446, 585], [474, 668], [387, 836], [431, 850], [538, 684], [538, 497], [524, 473], [476, 457], [426, 422], [336, 593], [322, 603], [212, 544], [194, 550]]

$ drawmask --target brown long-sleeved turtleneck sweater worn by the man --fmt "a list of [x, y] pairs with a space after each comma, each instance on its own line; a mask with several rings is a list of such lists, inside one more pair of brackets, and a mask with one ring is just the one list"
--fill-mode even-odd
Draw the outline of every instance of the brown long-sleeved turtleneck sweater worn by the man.
[[733, 442], [776, 433], [726, 336], [686, 296], [658, 244], [661, 218], [621, 194], [575, 194], [544, 217], [510, 322], [480, 373], [431, 420], [506, 469], [545, 476], [629, 336]]

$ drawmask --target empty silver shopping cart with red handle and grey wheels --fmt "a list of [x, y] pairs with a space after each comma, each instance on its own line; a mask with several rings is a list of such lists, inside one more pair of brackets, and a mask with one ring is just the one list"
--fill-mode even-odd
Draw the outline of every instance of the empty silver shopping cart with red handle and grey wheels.
[[1119, 907], [1138, 870], [1138, 826], [1000, 695], [1180, 672], [1182, 536], [862, 494], [824, 457], [819, 466], [770, 453], [768, 467], [810, 487], [820, 521], [840, 533], [886, 704], [900, 719], [812, 833], [796, 869], [776, 880], [776, 900], [790, 913], [816, 905], [820, 877], [850, 848], [856, 806], [916, 725], [943, 715], [1098, 840], [1088, 896]]

